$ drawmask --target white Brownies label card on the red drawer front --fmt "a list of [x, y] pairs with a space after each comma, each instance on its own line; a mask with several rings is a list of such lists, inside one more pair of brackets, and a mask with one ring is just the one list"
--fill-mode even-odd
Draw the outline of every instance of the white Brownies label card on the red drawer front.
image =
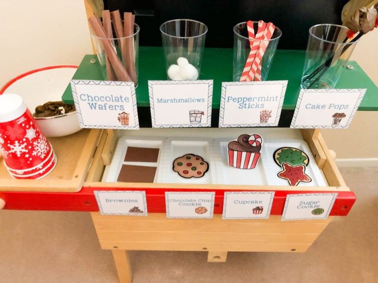
[[94, 191], [101, 214], [147, 215], [145, 191]]

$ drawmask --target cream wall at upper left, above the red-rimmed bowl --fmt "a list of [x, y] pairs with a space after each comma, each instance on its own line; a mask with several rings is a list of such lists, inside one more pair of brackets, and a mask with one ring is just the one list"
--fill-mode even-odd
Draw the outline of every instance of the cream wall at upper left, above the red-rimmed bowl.
[[0, 0], [0, 86], [32, 69], [79, 65], [88, 53], [83, 0]]

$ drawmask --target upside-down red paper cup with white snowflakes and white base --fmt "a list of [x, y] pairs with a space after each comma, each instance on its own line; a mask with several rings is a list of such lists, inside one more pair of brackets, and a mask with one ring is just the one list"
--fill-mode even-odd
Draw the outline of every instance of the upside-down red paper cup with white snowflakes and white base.
[[50, 143], [16, 94], [0, 95], [0, 151], [14, 178], [41, 178], [56, 165]]

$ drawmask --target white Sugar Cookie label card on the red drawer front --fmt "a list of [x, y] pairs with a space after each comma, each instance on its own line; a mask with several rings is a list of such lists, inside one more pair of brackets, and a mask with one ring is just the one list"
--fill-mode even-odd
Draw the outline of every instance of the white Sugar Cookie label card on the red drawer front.
[[282, 220], [327, 219], [337, 193], [288, 194]]

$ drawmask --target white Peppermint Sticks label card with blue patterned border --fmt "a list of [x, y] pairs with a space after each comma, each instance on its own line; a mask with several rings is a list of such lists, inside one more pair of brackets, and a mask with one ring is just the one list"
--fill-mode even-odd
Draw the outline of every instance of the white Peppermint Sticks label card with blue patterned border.
[[287, 80], [222, 83], [219, 127], [277, 126]]

